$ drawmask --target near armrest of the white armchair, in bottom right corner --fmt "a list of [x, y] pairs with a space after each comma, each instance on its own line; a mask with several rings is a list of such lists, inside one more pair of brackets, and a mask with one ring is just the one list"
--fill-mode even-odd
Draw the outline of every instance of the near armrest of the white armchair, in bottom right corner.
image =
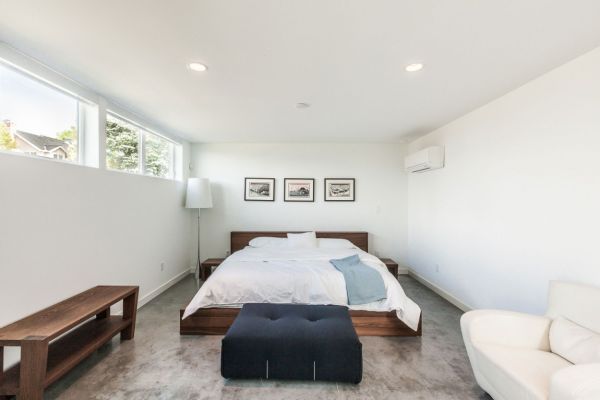
[[550, 380], [550, 400], [600, 399], [600, 363], [558, 370]]

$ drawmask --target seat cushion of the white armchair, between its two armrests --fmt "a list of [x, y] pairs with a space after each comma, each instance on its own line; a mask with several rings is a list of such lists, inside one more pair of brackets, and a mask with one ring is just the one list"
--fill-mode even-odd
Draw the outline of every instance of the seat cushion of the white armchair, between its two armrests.
[[474, 347], [480, 372], [505, 399], [547, 400], [552, 374], [572, 365], [546, 351], [480, 343]]

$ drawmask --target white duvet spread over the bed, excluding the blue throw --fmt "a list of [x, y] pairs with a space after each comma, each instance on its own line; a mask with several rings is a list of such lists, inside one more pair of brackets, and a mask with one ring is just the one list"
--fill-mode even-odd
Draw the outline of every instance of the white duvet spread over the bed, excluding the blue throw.
[[[381, 274], [387, 298], [348, 306], [344, 275], [329, 263], [358, 254]], [[253, 248], [228, 257], [202, 285], [183, 318], [200, 308], [241, 307], [245, 303], [335, 304], [351, 310], [396, 311], [398, 318], [417, 330], [421, 309], [409, 299], [398, 280], [377, 257], [358, 248]]]

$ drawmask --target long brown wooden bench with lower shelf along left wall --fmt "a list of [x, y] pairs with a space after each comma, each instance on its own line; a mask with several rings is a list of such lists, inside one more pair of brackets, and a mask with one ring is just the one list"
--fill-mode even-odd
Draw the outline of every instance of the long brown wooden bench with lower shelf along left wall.
[[[138, 290], [96, 286], [1, 328], [0, 398], [42, 400], [46, 387], [117, 333], [133, 339]], [[110, 306], [121, 300], [123, 316], [111, 316]], [[3, 372], [5, 346], [21, 347], [21, 362]]]

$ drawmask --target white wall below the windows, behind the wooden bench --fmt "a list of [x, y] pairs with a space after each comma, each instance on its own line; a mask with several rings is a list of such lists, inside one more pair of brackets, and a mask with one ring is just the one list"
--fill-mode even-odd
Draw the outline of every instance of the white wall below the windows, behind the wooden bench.
[[184, 194], [184, 182], [0, 154], [0, 326], [101, 284], [139, 285], [144, 301], [189, 273]]

